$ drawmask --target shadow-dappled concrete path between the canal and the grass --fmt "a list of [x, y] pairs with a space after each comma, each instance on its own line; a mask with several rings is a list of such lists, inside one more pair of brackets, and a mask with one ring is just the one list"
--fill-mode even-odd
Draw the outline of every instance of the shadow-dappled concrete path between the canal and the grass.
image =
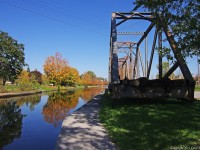
[[116, 149], [99, 120], [101, 97], [95, 96], [64, 119], [56, 150]]

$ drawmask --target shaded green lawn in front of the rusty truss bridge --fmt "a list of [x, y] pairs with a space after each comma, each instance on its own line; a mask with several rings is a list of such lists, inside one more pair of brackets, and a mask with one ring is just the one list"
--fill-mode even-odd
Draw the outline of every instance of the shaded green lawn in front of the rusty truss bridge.
[[109, 95], [100, 112], [120, 150], [200, 148], [200, 101], [118, 100]]

